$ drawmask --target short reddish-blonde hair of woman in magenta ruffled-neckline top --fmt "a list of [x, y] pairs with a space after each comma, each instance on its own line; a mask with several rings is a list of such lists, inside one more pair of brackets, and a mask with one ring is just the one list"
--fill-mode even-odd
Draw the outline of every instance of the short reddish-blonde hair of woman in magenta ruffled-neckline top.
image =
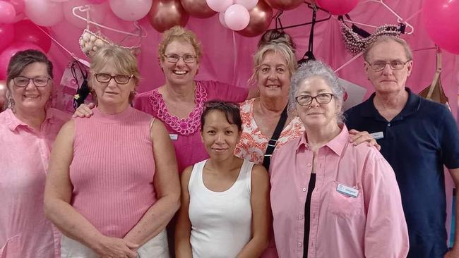
[[198, 37], [196, 37], [194, 32], [179, 25], [171, 27], [162, 34], [160, 45], [157, 48], [158, 59], [160, 59], [160, 61], [164, 61], [166, 48], [174, 40], [191, 44], [196, 54], [196, 61], [199, 63], [201, 57], [203, 56], [201, 42], [199, 42]]

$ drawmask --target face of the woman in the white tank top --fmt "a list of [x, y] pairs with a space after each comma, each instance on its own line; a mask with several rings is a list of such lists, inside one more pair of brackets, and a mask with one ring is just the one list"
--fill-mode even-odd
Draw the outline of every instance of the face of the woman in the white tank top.
[[211, 159], [228, 159], [234, 154], [241, 132], [229, 123], [225, 113], [213, 110], [205, 115], [201, 139]]

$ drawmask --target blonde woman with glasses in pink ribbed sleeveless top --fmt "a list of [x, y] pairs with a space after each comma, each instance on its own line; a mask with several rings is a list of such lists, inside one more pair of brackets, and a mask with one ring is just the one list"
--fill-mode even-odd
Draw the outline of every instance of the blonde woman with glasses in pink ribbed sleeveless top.
[[62, 257], [169, 257], [177, 161], [161, 121], [130, 106], [138, 80], [129, 51], [98, 51], [90, 78], [97, 109], [56, 138], [44, 207], [64, 233]]

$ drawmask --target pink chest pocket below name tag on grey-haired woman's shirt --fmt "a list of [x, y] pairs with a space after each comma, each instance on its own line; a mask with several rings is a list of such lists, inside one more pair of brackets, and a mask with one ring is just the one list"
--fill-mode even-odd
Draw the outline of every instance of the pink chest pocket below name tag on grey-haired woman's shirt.
[[337, 181], [333, 181], [331, 184], [328, 211], [331, 214], [343, 219], [352, 219], [355, 216], [362, 214], [362, 189], [357, 188], [359, 190], [357, 197], [352, 197], [338, 192], [336, 189], [339, 184], [340, 183]]

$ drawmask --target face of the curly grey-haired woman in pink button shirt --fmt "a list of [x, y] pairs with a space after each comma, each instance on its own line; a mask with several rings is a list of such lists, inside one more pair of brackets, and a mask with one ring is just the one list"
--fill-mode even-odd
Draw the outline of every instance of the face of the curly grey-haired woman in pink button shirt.
[[[309, 95], [316, 97], [321, 93], [332, 93], [331, 87], [326, 83], [323, 78], [313, 76], [304, 80], [297, 91], [299, 95]], [[298, 116], [304, 123], [306, 130], [308, 128], [335, 128], [338, 125], [338, 113], [340, 113], [341, 106], [332, 97], [331, 101], [327, 104], [318, 104], [316, 99], [313, 99], [311, 104], [300, 106], [297, 103]]]

